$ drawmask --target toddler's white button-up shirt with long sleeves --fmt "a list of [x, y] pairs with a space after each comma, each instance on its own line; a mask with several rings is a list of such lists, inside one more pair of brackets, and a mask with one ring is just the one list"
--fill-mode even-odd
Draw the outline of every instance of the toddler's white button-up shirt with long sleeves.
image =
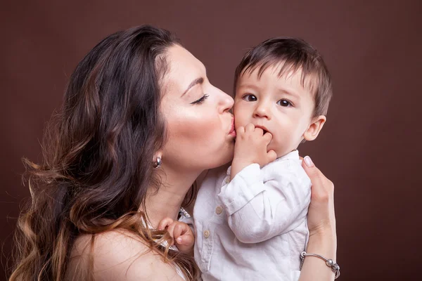
[[299, 152], [229, 173], [210, 170], [193, 209], [203, 280], [298, 280], [311, 195]]

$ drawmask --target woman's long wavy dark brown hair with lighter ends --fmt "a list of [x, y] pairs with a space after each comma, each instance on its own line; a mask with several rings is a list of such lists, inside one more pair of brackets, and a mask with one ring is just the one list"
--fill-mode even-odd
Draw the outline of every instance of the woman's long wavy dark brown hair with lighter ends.
[[[69, 280], [76, 238], [89, 234], [94, 243], [109, 230], [134, 233], [187, 280], [198, 277], [193, 258], [162, 247], [170, 235], [148, 229], [139, 211], [148, 188], [160, 187], [153, 169], [165, 143], [160, 81], [174, 44], [171, 32], [143, 25], [103, 39], [77, 65], [44, 132], [43, 162], [24, 159], [31, 201], [18, 219], [10, 280]], [[94, 280], [87, 272], [70, 280]]]

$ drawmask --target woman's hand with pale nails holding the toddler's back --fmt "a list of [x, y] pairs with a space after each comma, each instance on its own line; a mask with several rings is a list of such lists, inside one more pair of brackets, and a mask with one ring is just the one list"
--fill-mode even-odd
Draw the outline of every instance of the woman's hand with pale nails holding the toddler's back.
[[312, 181], [307, 218], [309, 235], [333, 235], [335, 238], [334, 185], [316, 168], [309, 156], [303, 159], [302, 166]]

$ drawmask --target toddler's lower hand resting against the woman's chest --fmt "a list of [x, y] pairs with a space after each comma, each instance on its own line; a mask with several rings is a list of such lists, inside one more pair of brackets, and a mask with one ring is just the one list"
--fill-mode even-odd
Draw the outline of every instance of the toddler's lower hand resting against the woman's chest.
[[172, 218], [164, 218], [158, 223], [158, 230], [167, 230], [179, 251], [193, 255], [195, 237], [191, 228], [186, 223], [173, 221]]

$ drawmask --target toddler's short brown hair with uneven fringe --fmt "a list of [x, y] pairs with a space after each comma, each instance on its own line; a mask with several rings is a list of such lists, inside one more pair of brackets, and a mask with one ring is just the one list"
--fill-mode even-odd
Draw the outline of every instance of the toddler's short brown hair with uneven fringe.
[[275, 37], [263, 41], [245, 53], [241, 63], [236, 67], [235, 92], [238, 78], [245, 72], [253, 72], [259, 67], [258, 77], [260, 77], [267, 67], [279, 63], [283, 63], [279, 77], [290, 71], [302, 71], [301, 84], [307, 86], [314, 96], [313, 117], [326, 115], [328, 103], [333, 95], [331, 75], [318, 51], [302, 39]]

